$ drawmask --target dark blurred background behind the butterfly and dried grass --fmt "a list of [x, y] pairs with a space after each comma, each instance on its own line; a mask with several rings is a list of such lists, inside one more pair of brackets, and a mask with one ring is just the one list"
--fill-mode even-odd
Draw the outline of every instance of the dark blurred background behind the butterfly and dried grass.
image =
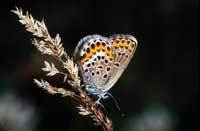
[[[77, 103], [33, 84], [51, 83], [31, 34], [10, 12], [15, 6], [45, 19], [69, 54], [89, 34], [132, 34], [138, 48], [110, 90], [120, 104], [103, 101], [115, 131], [183, 131], [198, 128], [198, 0], [7, 0], [0, 4], [0, 131], [101, 131], [78, 115]], [[121, 116], [121, 113], [124, 115]], [[198, 130], [198, 129], [195, 129]]]

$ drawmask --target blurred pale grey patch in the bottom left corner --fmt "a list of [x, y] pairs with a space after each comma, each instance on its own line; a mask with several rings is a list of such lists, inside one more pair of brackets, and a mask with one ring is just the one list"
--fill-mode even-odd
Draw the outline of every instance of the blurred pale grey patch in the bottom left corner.
[[34, 131], [36, 113], [32, 105], [7, 92], [0, 97], [1, 131]]

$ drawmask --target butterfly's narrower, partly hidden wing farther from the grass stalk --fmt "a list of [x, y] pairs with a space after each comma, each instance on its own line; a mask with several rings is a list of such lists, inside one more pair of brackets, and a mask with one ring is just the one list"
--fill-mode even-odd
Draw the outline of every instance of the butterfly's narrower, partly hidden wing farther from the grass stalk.
[[110, 79], [104, 85], [104, 92], [109, 90], [117, 82], [128, 66], [137, 47], [137, 40], [131, 35], [115, 34], [110, 36], [109, 40], [112, 44], [114, 63], [109, 74]]

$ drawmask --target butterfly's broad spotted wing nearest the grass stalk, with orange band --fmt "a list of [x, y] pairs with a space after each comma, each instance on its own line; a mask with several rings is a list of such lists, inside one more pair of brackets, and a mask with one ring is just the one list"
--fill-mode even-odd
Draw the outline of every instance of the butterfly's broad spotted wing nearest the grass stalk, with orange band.
[[103, 91], [114, 62], [110, 40], [100, 35], [86, 36], [78, 43], [74, 56], [84, 83]]

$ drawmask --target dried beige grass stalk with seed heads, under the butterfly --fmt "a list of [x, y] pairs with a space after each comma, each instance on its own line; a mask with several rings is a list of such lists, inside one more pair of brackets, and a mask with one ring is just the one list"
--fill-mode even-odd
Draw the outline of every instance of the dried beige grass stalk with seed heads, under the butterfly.
[[47, 61], [44, 61], [45, 67], [42, 68], [42, 70], [47, 73], [47, 76], [62, 74], [64, 76], [64, 82], [67, 81], [72, 86], [72, 89], [53, 87], [49, 82], [43, 79], [40, 81], [34, 79], [37, 86], [50, 94], [61, 94], [62, 97], [70, 96], [80, 103], [77, 107], [80, 115], [90, 116], [94, 120], [94, 123], [101, 125], [105, 131], [112, 131], [111, 119], [104, 114], [102, 111], [103, 108], [97, 105], [95, 101], [87, 95], [83, 88], [84, 85], [81, 85], [81, 78], [78, 75], [78, 66], [64, 50], [60, 35], [57, 34], [55, 38], [52, 38], [44, 20], [41, 22], [37, 21], [28, 12], [23, 14], [22, 9], [16, 7], [12, 12], [19, 17], [19, 22], [25, 26], [26, 30], [33, 34], [34, 38], [32, 44], [36, 46], [41, 54], [50, 55], [58, 60], [65, 69], [65, 72], [60, 71], [53, 63], [50, 64]]

